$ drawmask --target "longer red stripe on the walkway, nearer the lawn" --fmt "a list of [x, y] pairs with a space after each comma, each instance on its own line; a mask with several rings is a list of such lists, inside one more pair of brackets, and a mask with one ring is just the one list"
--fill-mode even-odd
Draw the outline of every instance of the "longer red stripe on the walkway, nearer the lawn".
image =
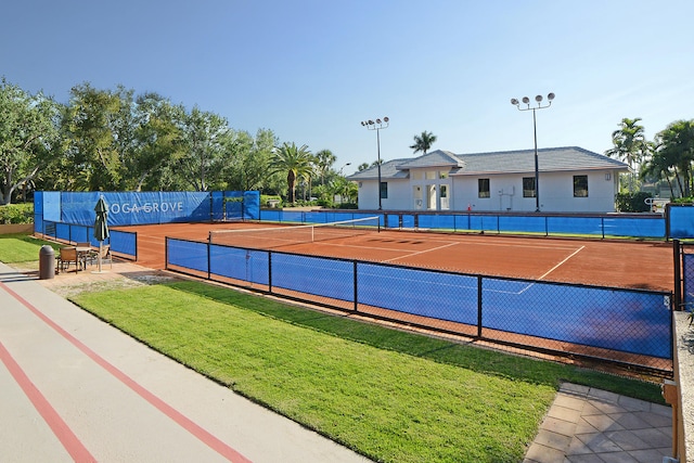
[[183, 415], [178, 410], [174, 409], [171, 406], [166, 403], [164, 400], [159, 399], [154, 394], [150, 393], [144, 387], [140, 386], [130, 376], [118, 370], [113, 364], [108, 363], [104, 358], [99, 356], [97, 352], [87, 347], [82, 342], [77, 339], [75, 336], [63, 330], [57, 323], [53, 320], [49, 319], [43, 312], [34, 307], [28, 300], [24, 299], [22, 296], [16, 294], [14, 291], [10, 290], [10, 287], [0, 282], [0, 287], [10, 293], [12, 297], [22, 303], [27, 309], [29, 309], [34, 314], [36, 314], [39, 319], [41, 319], [46, 324], [55, 330], [61, 336], [67, 339], [70, 344], [81, 350], [85, 355], [91, 358], [94, 362], [101, 365], [104, 370], [111, 373], [113, 376], [118, 378], [123, 384], [132, 389], [136, 394], [142, 397], [144, 400], [154, 406], [162, 413], [167, 415], [169, 419], [174, 420], [174, 422], [178, 423], [185, 430], [191, 433], [197, 439], [200, 439], [203, 443], [205, 443], [210, 449], [217, 451], [217, 453], [224, 456], [227, 460], [231, 462], [239, 463], [250, 463], [250, 460], [246, 459], [244, 455], [239, 453], [236, 450], [229, 447], [227, 443], [222, 442], [217, 437], [213, 436], [210, 433], [202, 428], [200, 425], [195, 424], [192, 420]]

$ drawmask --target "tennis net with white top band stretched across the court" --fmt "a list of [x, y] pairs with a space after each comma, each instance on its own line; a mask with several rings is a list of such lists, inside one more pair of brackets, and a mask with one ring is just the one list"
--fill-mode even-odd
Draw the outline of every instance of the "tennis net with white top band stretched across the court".
[[364, 217], [329, 223], [285, 224], [260, 229], [213, 230], [209, 232], [209, 243], [270, 249], [291, 246], [293, 244], [359, 236], [362, 234], [377, 233], [380, 231], [381, 222], [378, 217]]

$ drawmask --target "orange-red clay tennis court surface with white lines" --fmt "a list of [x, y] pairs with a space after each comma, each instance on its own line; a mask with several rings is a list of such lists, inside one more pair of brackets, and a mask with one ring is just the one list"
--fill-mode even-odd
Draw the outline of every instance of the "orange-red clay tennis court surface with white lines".
[[[207, 241], [210, 230], [292, 226], [270, 223], [169, 223], [123, 228], [138, 233], [138, 262], [165, 268], [165, 237]], [[673, 290], [670, 243], [446, 234], [382, 230], [358, 236], [253, 247], [376, 262], [551, 282], [655, 291]], [[243, 246], [247, 246], [244, 241]], [[240, 244], [241, 245], [241, 244]]]

